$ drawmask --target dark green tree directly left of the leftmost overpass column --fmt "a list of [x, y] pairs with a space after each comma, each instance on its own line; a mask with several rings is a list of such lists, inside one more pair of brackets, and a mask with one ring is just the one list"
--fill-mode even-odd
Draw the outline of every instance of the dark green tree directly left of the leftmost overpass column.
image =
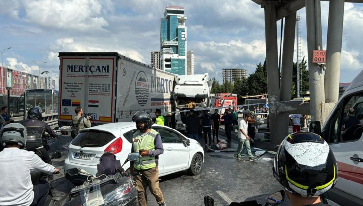
[[256, 65], [254, 73], [248, 77], [248, 94], [259, 95], [267, 93], [267, 64], [266, 60]]

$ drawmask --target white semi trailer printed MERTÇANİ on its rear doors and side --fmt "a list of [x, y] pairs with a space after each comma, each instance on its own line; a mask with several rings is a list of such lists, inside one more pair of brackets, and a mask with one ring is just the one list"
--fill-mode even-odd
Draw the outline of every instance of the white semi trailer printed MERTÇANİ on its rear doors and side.
[[75, 108], [92, 125], [131, 121], [138, 110], [172, 116], [175, 75], [116, 52], [59, 52], [59, 126], [71, 125]]

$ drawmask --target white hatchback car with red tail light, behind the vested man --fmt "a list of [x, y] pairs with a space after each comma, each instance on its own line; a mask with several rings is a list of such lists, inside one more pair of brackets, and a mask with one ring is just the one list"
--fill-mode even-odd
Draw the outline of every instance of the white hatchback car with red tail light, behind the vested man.
[[[188, 169], [193, 175], [201, 172], [204, 152], [201, 145], [175, 129], [152, 125], [160, 133], [164, 153], [159, 156], [159, 176]], [[71, 168], [84, 169], [95, 175], [102, 154], [116, 155], [121, 165], [127, 159], [132, 147], [132, 134], [136, 132], [134, 122], [119, 122], [82, 129], [68, 146], [64, 171]], [[127, 163], [124, 169], [128, 169]]]

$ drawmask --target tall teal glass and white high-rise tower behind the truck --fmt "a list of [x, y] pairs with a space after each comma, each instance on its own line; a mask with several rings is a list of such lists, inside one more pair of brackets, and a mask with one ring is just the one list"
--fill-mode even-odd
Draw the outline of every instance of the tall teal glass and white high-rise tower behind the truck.
[[167, 6], [160, 20], [160, 69], [186, 75], [186, 26], [184, 7]]

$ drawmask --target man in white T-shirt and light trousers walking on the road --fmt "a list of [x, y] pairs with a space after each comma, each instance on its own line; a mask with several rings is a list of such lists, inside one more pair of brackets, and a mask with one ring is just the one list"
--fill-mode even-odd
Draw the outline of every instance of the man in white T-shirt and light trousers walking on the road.
[[238, 125], [238, 149], [235, 155], [237, 160], [242, 159], [243, 146], [246, 146], [247, 153], [250, 156], [250, 161], [254, 161], [255, 157], [251, 152], [250, 137], [247, 135], [248, 132], [248, 120], [251, 118], [251, 114], [246, 114]]

